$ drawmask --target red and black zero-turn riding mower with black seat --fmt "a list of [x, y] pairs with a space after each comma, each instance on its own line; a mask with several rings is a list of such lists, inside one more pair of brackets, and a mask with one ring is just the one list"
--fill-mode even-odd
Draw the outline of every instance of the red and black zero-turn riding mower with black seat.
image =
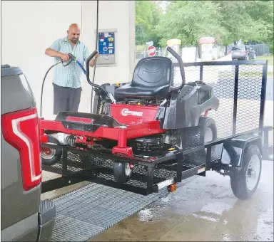
[[[113, 161], [113, 175], [126, 183], [136, 160], [153, 162], [215, 140], [215, 122], [206, 117], [219, 106], [213, 88], [202, 81], [186, 83], [181, 57], [170, 47], [168, 51], [180, 66], [182, 83], [177, 87], [172, 86], [172, 61], [163, 56], [141, 59], [131, 83], [91, 83], [88, 63], [94, 51], [86, 61], [86, 78], [96, 93], [93, 113], [59, 112], [55, 120], [42, 118], [41, 141], [121, 157], [121, 162]], [[57, 140], [54, 133], [66, 139]], [[88, 154], [82, 155], [83, 162]], [[61, 155], [61, 149], [43, 148], [42, 162], [56, 164]]]

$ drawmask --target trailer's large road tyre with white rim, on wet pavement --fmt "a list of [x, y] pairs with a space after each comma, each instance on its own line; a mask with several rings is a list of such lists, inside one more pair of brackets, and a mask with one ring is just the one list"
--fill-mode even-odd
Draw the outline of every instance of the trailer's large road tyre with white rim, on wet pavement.
[[241, 200], [250, 199], [255, 193], [262, 170], [262, 154], [257, 145], [245, 148], [242, 167], [230, 171], [230, 185], [233, 194]]

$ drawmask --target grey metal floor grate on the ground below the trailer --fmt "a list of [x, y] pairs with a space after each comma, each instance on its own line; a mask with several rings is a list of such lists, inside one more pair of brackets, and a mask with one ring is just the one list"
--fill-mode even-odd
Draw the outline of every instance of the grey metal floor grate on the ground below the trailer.
[[167, 191], [143, 196], [101, 184], [88, 184], [53, 200], [56, 222], [51, 241], [88, 241], [165, 194]]

